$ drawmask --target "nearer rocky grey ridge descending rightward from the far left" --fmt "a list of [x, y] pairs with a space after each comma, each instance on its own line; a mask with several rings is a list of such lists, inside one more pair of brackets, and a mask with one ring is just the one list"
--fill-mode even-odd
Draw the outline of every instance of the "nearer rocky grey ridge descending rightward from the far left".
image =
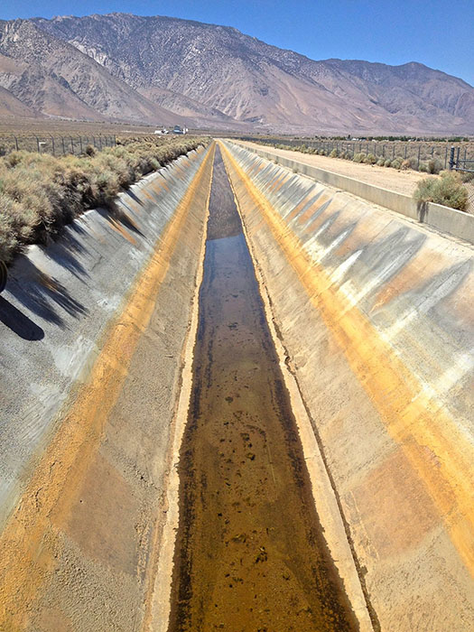
[[0, 23], [0, 86], [43, 116], [163, 125], [179, 118], [26, 20]]

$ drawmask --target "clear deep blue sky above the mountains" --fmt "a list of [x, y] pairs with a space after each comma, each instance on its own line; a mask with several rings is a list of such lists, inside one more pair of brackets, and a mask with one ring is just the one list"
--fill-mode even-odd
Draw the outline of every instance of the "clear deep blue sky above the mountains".
[[420, 61], [474, 85], [474, 0], [3, 0], [0, 18], [114, 11], [235, 26], [315, 60]]

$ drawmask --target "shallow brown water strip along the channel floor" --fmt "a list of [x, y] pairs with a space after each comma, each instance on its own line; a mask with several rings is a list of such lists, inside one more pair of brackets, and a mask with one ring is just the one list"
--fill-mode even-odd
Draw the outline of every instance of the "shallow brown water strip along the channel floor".
[[170, 632], [357, 629], [216, 154]]

